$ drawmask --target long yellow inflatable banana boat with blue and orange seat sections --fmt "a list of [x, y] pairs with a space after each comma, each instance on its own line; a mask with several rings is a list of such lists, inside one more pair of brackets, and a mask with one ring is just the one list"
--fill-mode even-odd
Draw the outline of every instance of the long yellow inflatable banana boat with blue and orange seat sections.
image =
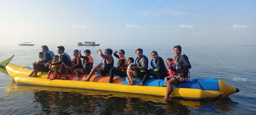
[[[0, 63], [0, 71], [10, 75], [18, 84], [27, 84], [33, 86], [46, 87], [61, 87], [74, 88], [95, 91], [143, 94], [153, 96], [165, 96], [166, 87], [165, 81], [162, 79], [149, 78], [145, 86], [128, 86], [125, 77], [114, 76], [113, 83], [105, 83], [109, 80], [109, 76], [101, 76], [94, 74], [90, 82], [76, 81], [75, 74], [69, 73], [68, 80], [59, 80], [65, 77], [65, 73], [59, 73], [56, 80], [46, 79], [48, 73], [41, 73], [38, 71], [38, 78], [30, 78], [29, 75], [33, 68], [22, 67], [9, 63], [14, 57], [2, 61]], [[80, 79], [83, 79], [88, 74], [79, 74]], [[50, 75], [50, 78], [53, 74]], [[137, 80], [134, 83], [139, 84], [142, 80]], [[233, 93], [239, 92], [238, 88], [231, 86], [219, 79], [190, 79], [188, 81], [173, 85], [173, 92], [170, 97], [179, 99], [195, 99], [195, 100], [209, 100], [216, 97], [227, 97]]]

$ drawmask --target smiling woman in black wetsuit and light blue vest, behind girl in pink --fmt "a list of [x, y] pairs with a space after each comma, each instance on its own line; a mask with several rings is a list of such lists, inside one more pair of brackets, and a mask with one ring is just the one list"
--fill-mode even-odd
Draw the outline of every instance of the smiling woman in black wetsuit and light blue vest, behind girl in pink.
[[165, 62], [160, 56], [158, 56], [158, 53], [156, 51], [152, 51], [151, 57], [152, 57], [152, 60], [150, 62], [150, 65], [153, 67], [153, 69], [147, 70], [142, 79], [142, 82], [135, 86], [144, 86], [146, 80], [150, 76], [153, 76], [154, 78], [157, 78], [157, 79], [165, 79], [165, 77], [168, 76], [167, 69], [165, 67]]

